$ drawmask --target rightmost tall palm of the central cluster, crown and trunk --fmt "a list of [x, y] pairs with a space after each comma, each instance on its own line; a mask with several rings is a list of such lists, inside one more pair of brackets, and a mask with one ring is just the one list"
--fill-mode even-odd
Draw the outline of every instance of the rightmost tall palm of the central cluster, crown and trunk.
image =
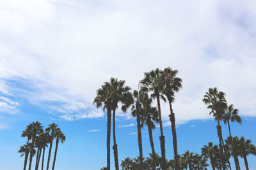
[[173, 113], [172, 103], [174, 101], [175, 92], [179, 92], [182, 87], [181, 78], [177, 77], [178, 70], [172, 70], [170, 67], [167, 67], [163, 71], [164, 76], [164, 94], [168, 99], [170, 106], [170, 122], [172, 123], [172, 138], [173, 138], [173, 152], [175, 159], [175, 169], [180, 169], [179, 160], [178, 160], [178, 146], [177, 146], [177, 134], [175, 127], [175, 113]]

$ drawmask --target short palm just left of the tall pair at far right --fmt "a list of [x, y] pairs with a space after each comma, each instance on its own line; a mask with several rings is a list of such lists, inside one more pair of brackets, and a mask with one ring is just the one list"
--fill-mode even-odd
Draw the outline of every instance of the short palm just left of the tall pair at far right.
[[204, 155], [206, 159], [210, 159], [212, 169], [215, 170], [216, 158], [214, 157], [214, 152], [218, 150], [218, 146], [213, 145], [212, 142], [209, 142], [208, 145], [204, 145], [204, 147], [201, 148], [201, 150], [202, 155]]

